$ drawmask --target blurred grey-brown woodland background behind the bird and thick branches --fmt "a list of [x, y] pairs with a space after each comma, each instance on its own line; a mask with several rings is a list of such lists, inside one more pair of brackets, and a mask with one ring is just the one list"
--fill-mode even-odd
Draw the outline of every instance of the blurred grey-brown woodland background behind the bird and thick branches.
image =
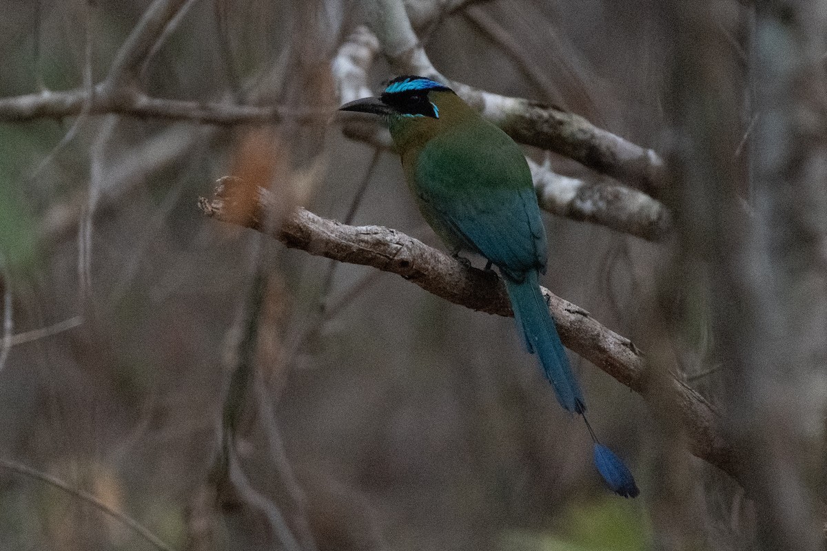
[[[128, 87], [280, 116], [7, 101], [104, 81], [164, 3]], [[823, 21], [805, 8], [823, 3], [764, 28], [775, 12], [750, 2], [409, 2], [442, 74], [670, 161], [668, 239], [547, 215], [543, 283], [722, 411], [750, 474], [693, 457], [674, 404], [570, 353], [595, 431], [638, 479], [624, 500], [513, 321], [198, 211], [232, 174], [270, 185], [281, 215], [441, 247], [395, 154], [334, 116], [355, 2], [0, 0], [0, 548], [820, 549], [827, 119]], [[377, 59], [370, 86], [392, 76]], [[733, 212], [750, 209], [744, 230]]]

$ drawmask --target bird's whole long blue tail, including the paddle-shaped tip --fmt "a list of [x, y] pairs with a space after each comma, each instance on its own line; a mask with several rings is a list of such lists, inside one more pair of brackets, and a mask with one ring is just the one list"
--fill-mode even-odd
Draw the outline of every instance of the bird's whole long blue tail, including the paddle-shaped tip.
[[637, 496], [638, 486], [634, 482], [631, 471], [620, 458], [609, 448], [606, 448], [591, 430], [589, 420], [586, 419], [586, 402], [580, 385], [574, 373], [571, 372], [566, 349], [557, 335], [552, 315], [548, 312], [548, 305], [540, 291], [539, 274], [532, 270], [525, 274], [523, 281], [518, 282], [503, 274], [505, 287], [509, 291], [511, 309], [517, 326], [523, 333], [528, 352], [537, 353], [543, 372], [552, 383], [557, 401], [567, 411], [574, 411], [583, 416], [591, 439], [594, 441], [595, 467], [600, 476], [606, 481], [612, 492], [624, 497]]

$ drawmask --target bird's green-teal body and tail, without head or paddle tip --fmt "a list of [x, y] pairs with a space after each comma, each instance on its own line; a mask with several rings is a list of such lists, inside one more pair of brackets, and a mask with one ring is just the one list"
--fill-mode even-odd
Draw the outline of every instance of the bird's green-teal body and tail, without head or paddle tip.
[[452, 250], [480, 254], [500, 268], [526, 347], [538, 354], [560, 404], [580, 413], [581, 390], [540, 292], [547, 241], [528, 164], [500, 128], [472, 122], [434, 136], [413, 158], [403, 155], [403, 164], [412, 164], [409, 187]]

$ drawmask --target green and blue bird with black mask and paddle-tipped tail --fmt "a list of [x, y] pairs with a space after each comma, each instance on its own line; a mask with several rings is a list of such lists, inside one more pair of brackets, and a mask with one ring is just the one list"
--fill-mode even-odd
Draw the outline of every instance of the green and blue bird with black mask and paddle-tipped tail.
[[505, 283], [529, 353], [537, 354], [557, 401], [582, 416], [598, 473], [619, 496], [638, 487], [629, 468], [600, 444], [539, 277], [547, 268], [547, 239], [528, 163], [509, 135], [485, 120], [452, 88], [431, 78], [393, 78], [378, 97], [348, 102], [340, 111], [382, 116], [402, 161], [419, 211], [451, 254], [479, 254]]

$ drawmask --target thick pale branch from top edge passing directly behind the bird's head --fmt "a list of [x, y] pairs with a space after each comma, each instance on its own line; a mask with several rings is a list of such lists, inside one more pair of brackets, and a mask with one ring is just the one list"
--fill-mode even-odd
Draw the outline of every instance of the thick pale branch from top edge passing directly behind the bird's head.
[[368, 26], [399, 74], [413, 73], [447, 83], [485, 118], [514, 140], [552, 150], [590, 169], [648, 193], [661, 195], [665, 165], [653, 150], [635, 145], [582, 116], [520, 97], [506, 97], [448, 80], [433, 67], [401, 0], [363, 0]]

